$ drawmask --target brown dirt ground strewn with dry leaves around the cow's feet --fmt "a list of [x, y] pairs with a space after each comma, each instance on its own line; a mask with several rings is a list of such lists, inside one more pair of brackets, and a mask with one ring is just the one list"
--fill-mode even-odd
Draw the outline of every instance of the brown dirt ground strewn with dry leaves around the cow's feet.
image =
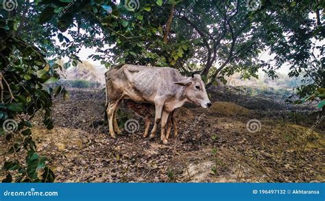
[[[310, 130], [316, 119], [285, 108], [279, 112], [274, 102], [269, 110], [248, 109], [215, 96], [210, 109], [186, 105], [176, 115], [178, 137], [163, 145], [159, 132], [156, 139], [142, 137], [144, 122], [135, 115], [139, 132], [112, 139], [108, 126], [97, 125], [104, 119], [104, 92], [70, 93], [67, 101], [54, 100], [53, 130], [43, 128], [40, 117], [32, 130], [56, 182], [325, 181], [324, 122]], [[245, 104], [249, 101], [263, 100]], [[251, 119], [261, 124], [247, 128]]]

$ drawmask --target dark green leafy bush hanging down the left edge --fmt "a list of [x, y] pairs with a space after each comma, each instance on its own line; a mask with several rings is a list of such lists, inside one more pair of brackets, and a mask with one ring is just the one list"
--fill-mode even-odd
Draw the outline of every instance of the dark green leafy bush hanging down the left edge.
[[[1, 3], [2, 5], [2, 3]], [[7, 18], [5, 18], [7, 15]], [[45, 60], [45, 54], [17, 34], [19, 18], [15, 12], [0, 10], [0, 137], [5, 150], [3, 182], [53, 182], [55, 176], [45, 156], [36, 153], [30, 120], [44, 112], [44, 124], [53, 128], [51, 93], [67, 93], [64, 88], [43, 84], [58, 80], [59, 66]], [[59, 90], [60, 89], [60, 90]], [[26, 154], [25, 160], [21, 157]]]

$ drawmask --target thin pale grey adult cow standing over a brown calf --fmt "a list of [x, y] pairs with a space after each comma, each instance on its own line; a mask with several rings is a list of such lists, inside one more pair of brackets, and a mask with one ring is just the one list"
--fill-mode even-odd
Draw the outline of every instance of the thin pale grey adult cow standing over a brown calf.
[[120, 64], [109, 69], [105, 77], [106, 99], [109, 100], [106, 113], [110, 136], [113, 138], [115, 138], [115, 132], [121, 132], [117, 126], [116, 113], [123, 99], [154, 104], [154, 127], [150, 138], [155, 136], [160, 122], [160, 139], [164, 144], [168, 143], [165, 137], [165, 126], [173, 110], [180, 108], [185, 102], [191, 102], [202, 108], [212, 105], [208, 99], [205, 84], [198, 74], [184, 77], [176, 69], [170, 67]]

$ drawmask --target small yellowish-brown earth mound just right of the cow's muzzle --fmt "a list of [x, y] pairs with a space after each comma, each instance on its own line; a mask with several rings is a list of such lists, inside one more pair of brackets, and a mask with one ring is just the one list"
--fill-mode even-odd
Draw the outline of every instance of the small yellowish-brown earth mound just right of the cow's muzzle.
[[217, 113], [225, 116], [250, 115], [250, 110], [230, 102], [214, 102], [208, 109], [209, 113]]

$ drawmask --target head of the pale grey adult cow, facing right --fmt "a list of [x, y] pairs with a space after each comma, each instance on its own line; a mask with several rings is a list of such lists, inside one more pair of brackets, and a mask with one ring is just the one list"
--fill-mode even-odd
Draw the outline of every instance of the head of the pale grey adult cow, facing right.
[[186, 78], [174, 84], [180, 84], [185, 86], [184, 95], [193, 104], [202, 106], [202, 108], [208, 108], [211, 106], [211, 102], [206, 94], [205, 84], [200, 75], [192, 75], [192, 78]]

